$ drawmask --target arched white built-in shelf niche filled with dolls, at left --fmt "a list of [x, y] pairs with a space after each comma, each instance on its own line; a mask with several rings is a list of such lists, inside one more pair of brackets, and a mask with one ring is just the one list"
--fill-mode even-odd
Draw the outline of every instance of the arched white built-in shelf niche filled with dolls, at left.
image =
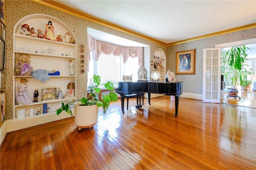
[[16, 23], [13, 37], [13, 119], [37, 120], [36, 113], [46, 115], [49, 105], [48, 113], [56, 113], [62, 102], [76, 99], [77, 45], [65, 23], [49, 15], [28, 15]]

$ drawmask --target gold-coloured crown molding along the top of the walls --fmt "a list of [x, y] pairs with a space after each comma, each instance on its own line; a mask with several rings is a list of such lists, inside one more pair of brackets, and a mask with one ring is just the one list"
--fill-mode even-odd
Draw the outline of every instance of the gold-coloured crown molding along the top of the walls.
[[245, 26], [231, 28], [231, 29], [228, 29], [228, 30], [223, 30], [223, 31], [220, 31], [220, 32], [214, 32], [214, 33], [206, 34], [206, 35], [203, 35], [203, 36], [198, 36], [198, 37], [189, 38], [189, 39], [186, 39], [186, 40], [181, 40], [181, 41], [178, 41], [178, 42], [164, 43], [164, 42], [161, 42], [161, 41], [156, 40], [154, 38], [151, 38], [151, 37], [145, 36], [143, 34], [140, 34], [138, 32], [134, 32], [132, 30], [128, 30], [128, 29], [123, 28], [121, 26], [118, 26], [118, 25], [112, 24], [110, 22], [106, 22], [104, 20], [101, 20], [99, 18], [90, 16], [90, 15], [88, 15], [86, 13], [80, 12], [80, 11], [75, 10], [73, 8], [70, 8], [68, 6], [64, 6], [64, 5], [59, 4], [58, 2], [55, 2], [55, 1], [52, 1], [52, 0], [32, 0], [32, 1], [38, 2], [38, 3], [43, 4], [45, 6], [49, 6], [50, 8], [54, 8], [56, 10], [60, 10], [62, 12], [66, 12], [68, 14], [77, 16], [79, 18], [83, 18], [85, 20], [89, 20], [91, 22], [100, 24], [102, 26], [106, 26], [106, 27], [112, 28], [114, 30], [117, 30], [117, 31], [120, 31], [120, 32], [124, 32], [126, 34], [130, 34], [132, 36], [136, 36], [138, 38], [142, 38], [144, 40], [148, 40], [148, 41], [151, 41], [151, 42], [154, 42], [154, 43], [158, 43], [160, 45], [164, 45], [166, 47], [169, 47], [169, 46], [172, 46], [172, 45], [181, 44], [181, 43], [186, 43], [186, 42], [192, 42], [192, 41], [200, 40], [200, 39], [204, 39], [204, 38], [210, 38], [210, 37], [213, 37], [213, 36], [219, 36], [219, 35], [227, 34], [227, 33], [231, 33], [231, 32], [237, 32], [237, 31], [247, 30], [247, 29], [250, 29], [250, 28], [256, 28], [256, 23], [253, 23], [253, 24], [248, 24], [248, 25], [245, 25]]

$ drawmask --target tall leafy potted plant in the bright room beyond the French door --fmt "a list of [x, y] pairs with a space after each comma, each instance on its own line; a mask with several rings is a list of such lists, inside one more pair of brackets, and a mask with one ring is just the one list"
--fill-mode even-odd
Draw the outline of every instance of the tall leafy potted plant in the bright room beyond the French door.
[[229, 95], [236, 97], [238, 95], [237, 86], [244, 85], [248, 81], [248, 75], [252, 74], [252, 69], [246, 69], [247, 54], [246, 50], [250, 48], [245, 45], [231, 47], [222, 57], [222, 62], [226, 65], [226, 76], [230, 78], [232, 88], [229, 89]]

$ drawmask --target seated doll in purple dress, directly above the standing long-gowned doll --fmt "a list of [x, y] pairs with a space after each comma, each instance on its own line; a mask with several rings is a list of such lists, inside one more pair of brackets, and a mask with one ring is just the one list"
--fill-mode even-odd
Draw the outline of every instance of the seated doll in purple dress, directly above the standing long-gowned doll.
[[26, 55], [18, 57], [18, 63], [14, 67], [14, 76], [30, 75], [33, 67], [30, 65], [30, 60]]

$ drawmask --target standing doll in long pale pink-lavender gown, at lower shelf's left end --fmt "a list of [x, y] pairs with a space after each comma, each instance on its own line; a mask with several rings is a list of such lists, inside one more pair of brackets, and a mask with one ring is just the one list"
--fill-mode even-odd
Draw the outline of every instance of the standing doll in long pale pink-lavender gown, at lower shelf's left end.
[[28, 85], [26, 84], [27, 82], [28, 82], [27, 79], [20, 79], [21, 84], [18, 84], [19, 92], [17, 93], [17, 96], [16, 96], [16, 103], [19, 106], [28, 105], [33, 102], [32, 99], [30, 99], [27, 92], [27, 87], [28, 87]]

